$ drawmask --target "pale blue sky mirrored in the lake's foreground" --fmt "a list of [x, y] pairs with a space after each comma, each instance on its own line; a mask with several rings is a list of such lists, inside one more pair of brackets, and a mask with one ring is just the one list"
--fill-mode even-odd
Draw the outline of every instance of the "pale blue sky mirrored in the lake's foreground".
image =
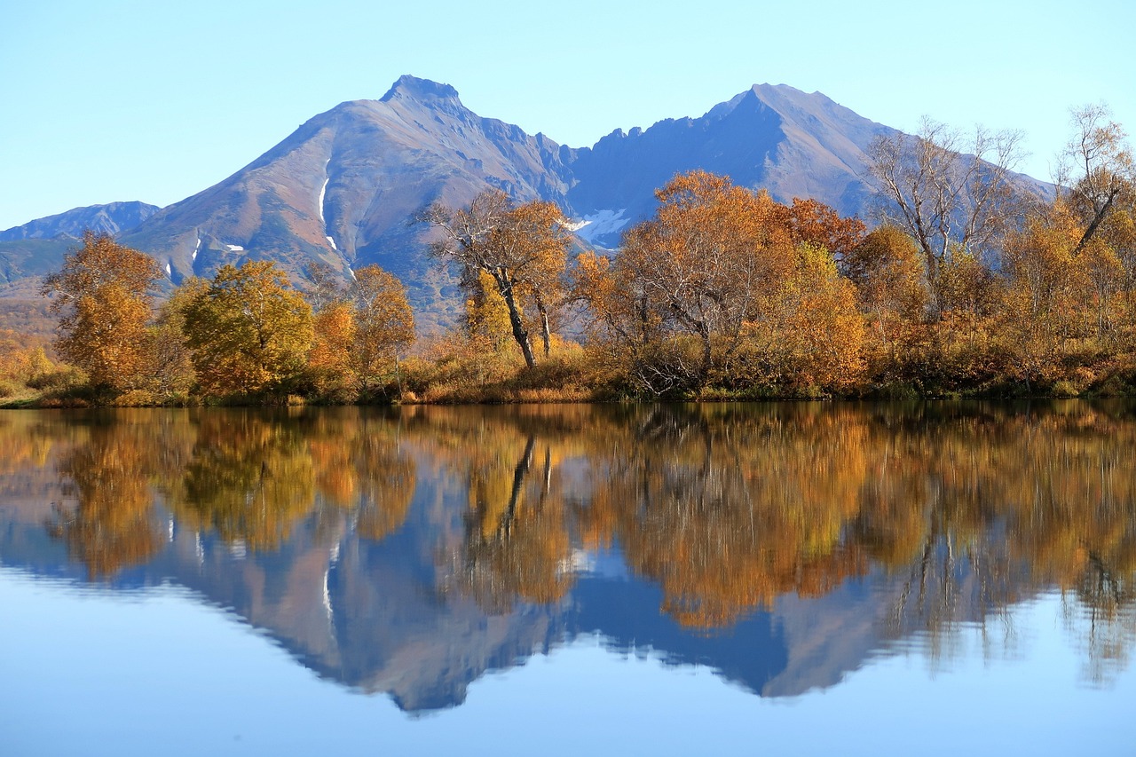
[[1084, 657], [1053, 594], [1011, 610], [1012, 655], [983, 655], [971, 629], [968, 654], [946, 665], [914, 649], [790, 699], [584, 637], [475, 681], [460, 707], [417, 718], [387, 697], [320, 680], [184, 590], [103, 593], [2, 568], [0, 607], [5, 755], [1131, 749], [1136, 671], [1108, 687], [1078, 685]]

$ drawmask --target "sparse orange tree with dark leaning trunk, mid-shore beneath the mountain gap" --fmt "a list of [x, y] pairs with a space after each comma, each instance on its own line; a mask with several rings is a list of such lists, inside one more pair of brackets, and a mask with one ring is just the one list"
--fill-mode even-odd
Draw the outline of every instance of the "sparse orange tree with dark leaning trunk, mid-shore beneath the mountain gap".
[[538, 313], [546, 355], [548, 314], [571, 243], [560, 208], [540, 201], [513, 206], [504, 192], [486, 190], [465, 209], [434, 203], [419, 221], [441, 232], [431, 252], [440, 260], [459, 264], [466, 272], [465, 282], [477, 280], [469, 272], [485, 272], [493, 277], [509, 309], [512, 336], [525, 365], [536, 365], [524, 308], [528, 300]]

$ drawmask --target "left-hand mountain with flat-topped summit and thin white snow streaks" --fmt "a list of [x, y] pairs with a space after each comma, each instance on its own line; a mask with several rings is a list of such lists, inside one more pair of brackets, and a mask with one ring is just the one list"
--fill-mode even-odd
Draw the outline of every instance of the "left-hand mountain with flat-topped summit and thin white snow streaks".
[[411, 289], [419, 310], [445, 310], [445, 282], [409, 222], [434, 200], [460, 205], [486, 186], [521, 200], [563, 202], [560, 148], [482, 118], [444, 84], [403, 76], [381, 100], [344, 102], [219, 184], [125, 235], [168, 266], [176, 283], [219, 265], [270, 257], [293, 275], [320, 260], [378, 263]]

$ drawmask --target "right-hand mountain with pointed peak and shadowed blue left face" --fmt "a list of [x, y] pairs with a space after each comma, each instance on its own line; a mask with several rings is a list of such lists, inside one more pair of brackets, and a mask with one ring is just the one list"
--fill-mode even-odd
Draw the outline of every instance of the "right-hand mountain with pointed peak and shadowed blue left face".
[[[570, 205], [585, 217], [634, 222], [654, 209], [653, 192], [676, 173], [702, 168], [774, 199], [813, 198], [844, 215], [863, 215], [870, 188], [864, 150], [894, 130], [868, 120], [820, 93], [758, 84], [700, 118], [661, 120], [616, 131], [578, 150]], [[607, 211], [607, 215], [604, 215]], [[605, 247], [623, 225], [582, 234]]]

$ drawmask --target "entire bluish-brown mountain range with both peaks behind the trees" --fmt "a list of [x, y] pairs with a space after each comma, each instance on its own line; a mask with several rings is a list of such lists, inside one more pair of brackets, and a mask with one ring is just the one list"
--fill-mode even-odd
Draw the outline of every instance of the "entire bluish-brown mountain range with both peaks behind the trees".
[[402, 76], [381, 100], [311, 118], [169, 207], [95, 206], [0, 233], [0, 284], [57, 268], [85, 224], [154, 256], [173, 284], [248, 258], [273, 258], [296, 278], [312, 260], [344, 276], [377, 263], [407, 284], [425, 324], [441, 324], [459, 299], [426, 258], [427, 230], [410, 223], [429, 202], [462, 205], [488, 186], [518, 201], [552, 200], [584, 243], [613, 248], [628, 224], [652, 213], [655, 189], [704, 168], [783, 202], [813, 198], [867, 217], [866, 149], [894, 131], [819, 92], [759, 84], [701, 117], [617, 130], [574, 149], [478, 116], [448, 84]]

